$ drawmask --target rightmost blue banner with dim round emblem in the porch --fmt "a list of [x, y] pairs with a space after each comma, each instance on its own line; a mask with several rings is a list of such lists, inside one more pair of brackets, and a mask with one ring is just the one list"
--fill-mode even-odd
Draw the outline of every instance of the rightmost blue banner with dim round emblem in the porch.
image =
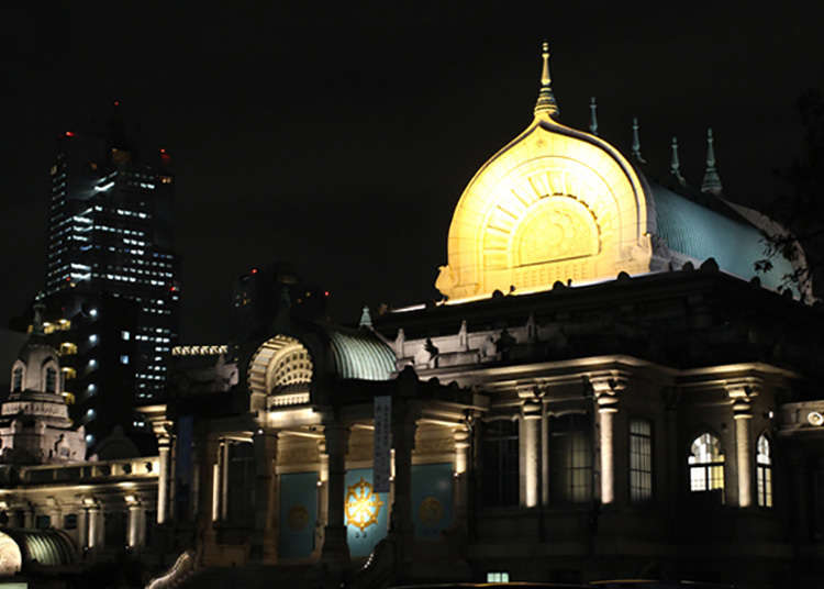
[[438, 540], [453, 520], [453, 465], [412, 467], [412, 521], [415, 537]]

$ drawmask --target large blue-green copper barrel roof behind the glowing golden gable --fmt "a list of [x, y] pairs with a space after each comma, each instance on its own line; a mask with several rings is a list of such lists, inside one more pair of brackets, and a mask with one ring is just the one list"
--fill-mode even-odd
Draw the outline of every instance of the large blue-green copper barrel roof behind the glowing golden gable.
[[650, 182], [655, 197], [658, 236], [667, 246], [699, 263], [715, 258], [719, 267], [749, 280], [758, 276], [765, 287], [778, 289], [792, 264], [782, 256], [772, 258], [772, 269], [756, 274], [755, 263], [765, 257], [764, 235], [749, 224], [734, 221], [701, 207], [662, 186]]

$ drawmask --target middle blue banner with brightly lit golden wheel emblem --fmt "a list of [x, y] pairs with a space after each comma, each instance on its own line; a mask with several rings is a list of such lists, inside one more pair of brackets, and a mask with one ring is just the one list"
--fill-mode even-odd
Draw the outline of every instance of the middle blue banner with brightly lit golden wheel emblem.
[[386, 537], [389, 523], [389, 493], [376, 493], [372, 469], [346, 471], [344, 510], [346, 543], [352, 556], [369, 556], [380, 540]]

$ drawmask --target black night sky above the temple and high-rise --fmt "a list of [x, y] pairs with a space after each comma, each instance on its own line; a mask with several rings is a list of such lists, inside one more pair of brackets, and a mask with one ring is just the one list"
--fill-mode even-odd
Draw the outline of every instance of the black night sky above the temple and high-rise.
[[342, 322], [434, 298], [464, 187], [531, 121], [544, 37], [561, 122], [586, 129], [595, 96], [601, 136], [627, 153], [639, 116], [666, 169], [678, 135], [693, 184], [711, 125], [743, 203], [776, 193], [771, 170], [801, 152], [795, 100], [824, 74], [821, 9], [356, 4], [0, 9], [5, 318], [42, 288], [54, 137], [114, 99], [175, 156], [183, 341], [212, 343], [233, 278], [275, 259], [324, 285]]

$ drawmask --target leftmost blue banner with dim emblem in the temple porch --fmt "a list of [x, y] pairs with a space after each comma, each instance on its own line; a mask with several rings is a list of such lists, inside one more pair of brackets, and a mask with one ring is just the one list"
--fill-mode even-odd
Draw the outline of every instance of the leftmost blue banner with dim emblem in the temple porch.
[[318, 473], [280, 475], [278, 555], [305, 558], [314, 551], [318, 521]]

